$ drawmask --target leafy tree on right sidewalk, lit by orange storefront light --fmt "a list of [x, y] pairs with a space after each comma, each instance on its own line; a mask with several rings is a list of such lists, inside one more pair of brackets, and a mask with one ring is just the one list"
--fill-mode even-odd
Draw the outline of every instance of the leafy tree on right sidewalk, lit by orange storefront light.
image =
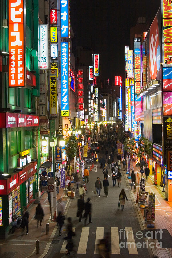
[[137, 141], [138, 148], [136, 147], [136, 141], [134, 138], [127, 138], [124, 141], [124, 150], [127, 152], [134, 154], [138, 158], [140, 158], [139, 166], [140, 169], [142, 169], [141, 160], [143, 156], [147, 156], [147, 158], [150, 158], [152, 155], [152, 142], [148, 140], [147, 138], [140, 137], [140, 139]]

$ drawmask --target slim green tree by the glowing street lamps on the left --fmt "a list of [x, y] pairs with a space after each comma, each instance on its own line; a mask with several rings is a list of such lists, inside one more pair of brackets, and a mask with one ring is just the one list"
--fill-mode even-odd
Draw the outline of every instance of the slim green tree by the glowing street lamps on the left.
[[69, 136], [65, 140], [67, 140], [67, 143], [66, 143], [67, 146], [65, 147], [65, 149], [66, 149], [66, 153], [67, 153], [67, 157], [68, 157], [68, 161], [69, 161], [69, 169], [67, 171], [67, 174], [69, 175], [71, 161], [78, 153], [78, 150], [77, 150], [78, 141], [74, 134], [71, 134], [71, 136]]

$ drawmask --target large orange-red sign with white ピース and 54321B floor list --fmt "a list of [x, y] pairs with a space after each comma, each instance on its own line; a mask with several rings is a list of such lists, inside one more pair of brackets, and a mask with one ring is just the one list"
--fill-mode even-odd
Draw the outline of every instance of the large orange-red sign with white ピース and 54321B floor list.
[[9, 87], [26, 86], [25, 1], [8, 1]]

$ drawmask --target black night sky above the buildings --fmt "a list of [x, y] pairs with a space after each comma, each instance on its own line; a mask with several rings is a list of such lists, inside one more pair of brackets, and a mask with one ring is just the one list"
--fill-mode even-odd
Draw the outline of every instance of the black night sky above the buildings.
[[130, 45], [130, 27], [138, 17], [153, 21], [160, 1], [70, 0], [73, 47], [92, 47], [99, 54], [101, 79], [121, 75], [124, 80], [124, 46]]

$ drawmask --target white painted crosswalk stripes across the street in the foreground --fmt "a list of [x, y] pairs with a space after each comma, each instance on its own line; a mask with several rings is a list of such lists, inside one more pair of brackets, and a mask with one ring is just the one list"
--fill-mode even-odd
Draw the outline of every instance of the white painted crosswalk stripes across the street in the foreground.
[[[73, 231], [76, 233], [75, 228]], [[81, 230], [81, 235], [79, 236], [78, 244], [75, 245], [76, 251], [78, 254], [86, 254], [87, 251], [90, 252], [90, 247], [88, 247], [88, 240], [90, 237], [90, 228], [83, 227]], [[76, 234], [78, 236], [78, 233]], [[104, 227], [97, 227], [96, 234], [94, 237], [94, 254], [98, 254], [97, 245], [100, 243], [100, 240], [105, 237]], [[128, 249], [129, 255], [138, 255], [137, 245], [135, 242], [134, 233], [131, 227], [125, 227], [120, 229], [118, 227], [110, 228], [110, 238], [111, 238], [111, 253], [112, 254], [121, 254], [123, 253], [123, 248]], [[137, 239], [138, 241], [138, 239]], [[143, 239], [144, 241], [144, 239]], [[92, 241], [91, 241], [92, 242]], [[64, 240], [60, 253], [66, 253], [67, 241]], [[140, 248], [140, 247], [139, 247]]]

